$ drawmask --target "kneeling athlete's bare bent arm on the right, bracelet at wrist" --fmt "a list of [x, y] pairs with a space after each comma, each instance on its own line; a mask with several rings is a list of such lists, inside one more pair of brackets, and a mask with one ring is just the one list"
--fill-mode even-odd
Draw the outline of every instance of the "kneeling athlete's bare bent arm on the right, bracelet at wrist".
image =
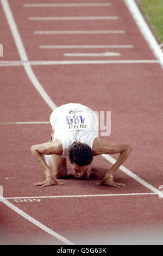
[[101, 155], [101, 154], [117, 154], [120, 153], [117, 161], [113, 166], [108, 170], [107, 174], [105, 174], [103, 180], [99, 182], [99, 185], [108, 185], [108, 186], [125, 186], [125, 184], [114, 182], [113, 174], [115, 171], [121, 166], [121, 164], [126, 161], [127, 157], [131, 153], [131, 145], [129, 144], [114, 144], [114, 143], [100, 143], [98, 138], [93, 142], [93, 155]]

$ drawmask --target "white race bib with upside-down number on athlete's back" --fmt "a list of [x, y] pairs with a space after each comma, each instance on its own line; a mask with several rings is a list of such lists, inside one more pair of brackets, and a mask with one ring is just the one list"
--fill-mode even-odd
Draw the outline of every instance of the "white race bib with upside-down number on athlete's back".
[[66, 111], [61, 119], [66, 130], [90, 130], [91, 127], [89, 116], [85, 111]]

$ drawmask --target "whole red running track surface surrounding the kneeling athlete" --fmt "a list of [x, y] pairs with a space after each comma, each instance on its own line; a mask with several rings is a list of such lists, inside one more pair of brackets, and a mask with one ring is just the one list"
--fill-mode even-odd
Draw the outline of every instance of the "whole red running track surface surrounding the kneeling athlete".
[[[102, 1], [108, 3], [108, 1]], [[10, 245], [110, 245], [160, 243], [162, 198], [162, 68], [123, 1], [101, 7], [25, 7], [6, 1], [28, 59], [14, 41], [0, 5], [1, 43], [1, 240]], [[30, 4], [33, 1], [26, 1]], [[45, 1], [35, 1], [45, 3]], [[54, 3], [54, 1], [48, 1]], [[64, 4], [64, 1], [55, 1]], [[66, 1], [72, 3], [72, 1]], [[80, 3], [85, 3], [84, 0]], [[99, 3], [89, 1], [89, 3]], [[3, 8], [2, 8], [3, 7]], [[10, 14], [11, 14], [10, 13]], [[116, 16], [115, 20], [36, 21], [29, 17]], [[13, 21], [13, 20], [12, 20]], [[14, 25], [12, 23], [12, 32]], [[123, 31], [118, 34], [36, 34], [36, 31]], [[16, 33], [15, 31], [13, 33]], [[41, 48], [66, 45], [122, 45], [122, 48]], [[124, 45], [128, 47], [124, 48]], [[21, 56], [18, 51], [21, 50]], [[119, 56], [65, 56], [65, 53], [114, 52]], [[29, 61], [32, 74], [25, 68]], [[42, 61], [54, 61], [43, 65]], [[69, 63], [61, 61], [70, 60]], [[74, 61], [77, 61], [75, 63]], [[96, 61], [81, 64], [81, 61]], [[98, 63], [99, 60], [154, 60], [153, 63]], [[11, 61], [11, 62], [10, 62]], [[16, 62], [17, 61], [17, 62]], [[26, 64], [23, 66], [23, 62]], [[58, 61], [58, 63], [56, 63]], [[35, 64], [35, 65], [33, 65]], [[126, 187], [97, 186], [111, 166], [103, 156], [93, 160], [89, 180], [78, 180], [68, 165], [64, 186], [35, 187], [44, 179], [30, 147], [46, 142], [52, 107], [34, 85], [39, 83], [54, 105], [81, 102], [95, 111], [111, 111], [111, 135], [103, 142], [133, 145], [115, 180]], [[47, 98], [46, 98], [47, 99]], [[20, 122], [20, 123], [15, 123]], [[27, 124], [26, 122], [30, 122]], [[111, 156], [112, 157], [112, 156]], [[113, 156], [115, 159], [117, 156]], [[112, 158], [110, 159], [112, 161]], [[125, 169], [126, 170], [126, 169]], [[130, 173], [131, 172], [131, 173]], [[135, 175], [135, 179], [133, 176]], [[142, 181], [142, 182], [141, 182]], [[67, 197], [71, 196], [71, 197]]]

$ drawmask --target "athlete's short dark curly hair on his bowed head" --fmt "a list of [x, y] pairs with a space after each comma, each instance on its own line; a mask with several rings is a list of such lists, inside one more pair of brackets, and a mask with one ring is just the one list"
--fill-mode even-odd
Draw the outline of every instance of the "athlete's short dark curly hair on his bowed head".
[[68, 148], [68, 156], [71, 163], [78, 166], [86, 166], [93, 160], [92, 149], [85, 143], [75, 142]]

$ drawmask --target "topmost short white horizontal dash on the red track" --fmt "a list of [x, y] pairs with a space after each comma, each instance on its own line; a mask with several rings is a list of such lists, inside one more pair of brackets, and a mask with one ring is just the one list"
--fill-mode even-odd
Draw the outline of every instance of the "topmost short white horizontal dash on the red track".
[[23, 7], [106, 7], [111, 3], [42, 3], [42, 4], [23, 4]]

